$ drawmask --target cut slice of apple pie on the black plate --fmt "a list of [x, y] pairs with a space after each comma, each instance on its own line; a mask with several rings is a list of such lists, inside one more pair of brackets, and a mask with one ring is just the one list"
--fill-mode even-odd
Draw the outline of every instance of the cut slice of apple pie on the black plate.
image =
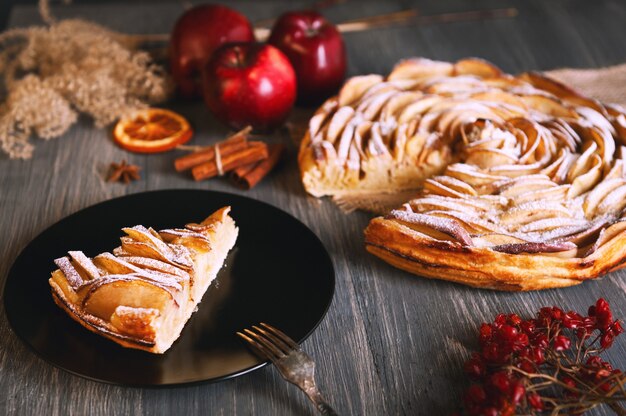
[[155, 231], [137, 225], [113, 253], [70, 251], [49, 280], [75, 321], [127, 348], [164, 353], [215, 279], [238, 229], [230, 207], [200, 224]]

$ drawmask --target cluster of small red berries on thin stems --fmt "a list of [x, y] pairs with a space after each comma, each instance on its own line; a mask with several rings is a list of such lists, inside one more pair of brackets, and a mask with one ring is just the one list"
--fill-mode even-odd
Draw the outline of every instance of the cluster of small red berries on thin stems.
[[541, 308], [534, 319], [496, 316], [480, 326], [480, 352], [465, 363], [474, 381], [464, 397], [465, 414], [582, 413], [603, 398], [615, 406], [626, 376], [598, 354], [622, 332], [604, 299], [588, 316], [557, 307]]

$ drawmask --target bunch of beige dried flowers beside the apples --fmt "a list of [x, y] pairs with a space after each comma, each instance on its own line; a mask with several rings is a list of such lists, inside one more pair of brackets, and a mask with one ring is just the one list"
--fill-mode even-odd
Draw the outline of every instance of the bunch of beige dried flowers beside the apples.
[[40, 1], [45, 26], [0, 34], [0, 145], [11, 158], [31, 157], [28, 139], [59, 137], [83, 113], [97, 127], [164, 101], [165, 71], [131, 37], [80, 19], [54, 21]]

